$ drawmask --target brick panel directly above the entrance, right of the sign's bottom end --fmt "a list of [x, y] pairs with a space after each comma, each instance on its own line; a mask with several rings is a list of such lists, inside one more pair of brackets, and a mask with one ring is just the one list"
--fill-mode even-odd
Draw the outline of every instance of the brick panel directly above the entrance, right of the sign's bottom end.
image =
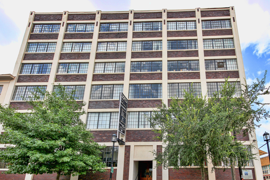
[[155, 139], [158, 134], [152, 130], [127, 130], [126, 141], [127, 142], [160, 142]]

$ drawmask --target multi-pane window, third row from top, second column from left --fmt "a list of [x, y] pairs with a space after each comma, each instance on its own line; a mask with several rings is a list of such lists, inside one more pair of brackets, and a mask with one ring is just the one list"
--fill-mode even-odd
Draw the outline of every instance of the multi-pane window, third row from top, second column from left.
[[88, 63], [59, 63], [57, 73], [87, 73]]

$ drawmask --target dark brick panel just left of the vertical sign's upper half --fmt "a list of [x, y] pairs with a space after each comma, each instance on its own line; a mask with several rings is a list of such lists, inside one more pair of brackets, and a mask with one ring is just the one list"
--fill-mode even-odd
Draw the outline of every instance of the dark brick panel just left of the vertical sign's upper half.
[[119, 100], [111, 101], [89, 101], [88, 109], [109, 109], [109, 108], [119, 108]]

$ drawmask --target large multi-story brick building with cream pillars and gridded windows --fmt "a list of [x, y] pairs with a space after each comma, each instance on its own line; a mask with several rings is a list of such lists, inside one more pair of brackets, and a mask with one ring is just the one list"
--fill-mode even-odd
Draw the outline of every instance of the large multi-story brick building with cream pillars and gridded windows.
[[[16, 61], [14, 80], [4, 103], [26, 112], [22, 97], [37, 86], [53, 90], [61, 83], [76, 89], [87, 114], [82, 120], [95, 141], [107, 145], [103, 161], [110, 167], [111, 136], [117, 134], [119, 93], [129, 99], [125, 145], [116, 143], [113, 179], [200, 179], [197, 166], [155, 168], [150, 151], [162, 151], [162, 142], [153, 139], [147, 116], [171, 97], [183, 97], [193, 83], [195, 92], [211, 97], [224, 78], [244, 83], [245, 72], [234, 7], [186, 10], [121, 12], [30, 12]], [[239, 94], [237, 93], [236, 96]], [[160, 100], [161, 99], [161, 100]], [[238, 140], [250, 145], [253, 134]], [[254, 142], [257, 147], [257, 142]], [[250, 150], [250, 149], [249, 149]], [[253, 153], [258, 150], [252, 149]], [[259, 155], [255, 158], [260, 159]], [[205, 162], [206, 179], [231, 179], [228, 167], [211, 172]], [[4, 169], [2, 169], [4, 170]], [[251, 160], [246, 170], [250, 179], [262, 179], [260, 160]], [[107, 179], [105, 173], [72, 176], [71, 179]], [[239, 175], [236, 171], [237, 176]], [[1, 175], [0, 175], [1, 176]], [[22, 175], [23, 176], [23, 175]], [[49, 175], [24, 175], [25, 179]], [[69, 179], [70, 177], [65, 177]]]

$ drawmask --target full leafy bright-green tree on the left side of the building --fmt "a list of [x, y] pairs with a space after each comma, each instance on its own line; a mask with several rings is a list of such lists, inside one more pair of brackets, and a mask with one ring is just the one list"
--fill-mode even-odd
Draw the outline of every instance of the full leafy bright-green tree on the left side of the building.
[[76, 102], [74, 93], [56, 86], [50, 93], [36, 89], [27, 103], [29, 113], [0, 106], [0, 122], [5, 133], [0, 136], [6, 149], [0, 158], [10, 162], [6, 173], [60, 175], [86, 174], [89, 168], [103, 172], [106, 165], [100, 159], [104, 147], [94, 142], [80, 116], [86, 112], [85, 102]]

